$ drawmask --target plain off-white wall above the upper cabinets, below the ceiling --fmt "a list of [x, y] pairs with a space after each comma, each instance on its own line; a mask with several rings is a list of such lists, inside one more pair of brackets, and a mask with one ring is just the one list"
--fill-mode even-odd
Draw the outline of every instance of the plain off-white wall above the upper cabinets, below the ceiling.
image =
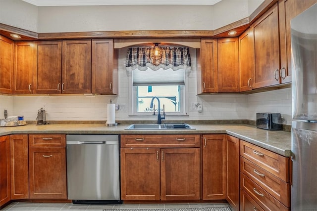
[[0, 0], [0, 23], [38, 33], [214, 30], [249, 16], [263, 1], [222, 0], [214, 5], [34, 6], [22, 0]]

